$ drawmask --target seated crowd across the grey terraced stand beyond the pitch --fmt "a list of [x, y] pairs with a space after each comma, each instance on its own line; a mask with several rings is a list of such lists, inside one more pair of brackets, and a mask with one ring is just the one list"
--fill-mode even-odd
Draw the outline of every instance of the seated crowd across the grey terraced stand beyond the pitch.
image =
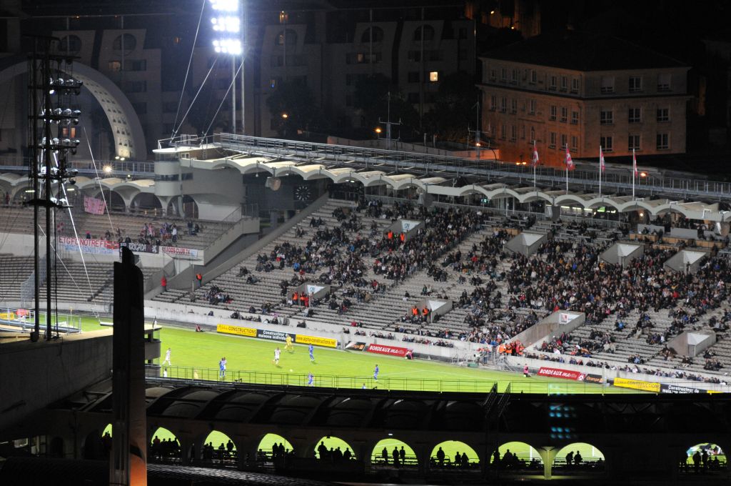
[[[249, 306], [249, 313], [261, 309], [261, 313], [293, 312], [314, 319], [335, 315], [349, 319], [343, 323], [346, 326], [352, 321], [373, 327], [360, 309], [378, 307], [378, 302], [401, 288], [404, 305], [400, 314], [390, 326], [377, 327], [404, 334], [400, 338], [404, 343], [452, 345], [454, 340], [463, 340], [520, 354], [522, 344], [506, 343], [545, 315], [572, 310], [586, 315], [580, 328], [587, 329], [586, 334], [549, 337], [531, 353], [582, 364], [599, 354], [612, 362], [626, 361], [628, 370], [654, 356], [668, 367], [681, 368], [684, 363], [667, 346], [673, 337], [701, 327], [712, 329], [720, 338], [728, 329], [730, 316], [714, 312], [727, 300], [725, 286], [730, 279], [728, 262], [721, 256], [710, 258], [697, 274], [678, 274], [664, 268], [674, 253], [667, 245], [648, 245], [642, 257], [624, 268], [601, 261], [599, 254], [621, 233], [604, 237], [601, 228], [586, 223], [550, 223], [546, 230], [545, 223], [520, 220], [521, 227], [535, 224], [549, 234], [537, 253], [526, 257], [507, 251], [505, 245], [512, 236], [504, 228], [510, 225], [496, 223], [494, 217], [491, 220], [488, 213], [479, 211], [368, 201], [337, 206], [327, 216], [314, 214], [308, 225], [298, 225], [296, 239], [280, 240], [260, 253], [253, 270], [246, 265], [236, 268], [246, 285], [260, 285], [267, 274], [279, 278], [279, 302], [271, 299], [261, 307]], [[333, 219], [336, 225], [330, 223]], [[398, 220], [423, 225], [406, 236], [387, 226]], [[463, 244], [478, 233], [484, 235], [479, 241]], [[583, 237], [572, 238], [578, 233]], [[279, 277], [283, 272], [289, 276]], [[420, 292], [414, 291], [409, 282], [421, 275], [431, 278], [433, 285], [424, 284]], [[313, 282], [332, 287], [318, 298], [301, 293], [294, 298], [293, 288]], [[213, 283], [204, 290], [211, 304], [236, 302], [228, 298], [225, 285]], [[425, 298], [451, 301], [452, 310], [446, 315], [425, 313], [414, 304], [415, 299]], [[661, 312], [669, 313], [669, 325], [664, 321], [657, 324]], [[461, 321], [455, 322], [452, 315], [460, 315]], [[607, 321], [613, 322], [610, 329]], [[388, 334], [374, 331], [374, 337], [382, 339], [390, 339]], [[619, 352], [625, 342], [635, 340], [655, 351]], [[702, 366], [719, 371], [725, 359], [709, 356]], [[689, 370], [677, 371], [673, 374], [693, 379]]]

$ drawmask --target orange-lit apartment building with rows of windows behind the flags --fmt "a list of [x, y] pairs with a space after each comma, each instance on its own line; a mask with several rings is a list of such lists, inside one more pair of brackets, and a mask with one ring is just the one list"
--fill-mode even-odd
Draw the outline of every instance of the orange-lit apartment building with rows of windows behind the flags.
[[501, 157], [572, 157], [686, 151], [687, 72], [630, 42], [557, 31], [499, 48], [482, 61], [482, 129]]

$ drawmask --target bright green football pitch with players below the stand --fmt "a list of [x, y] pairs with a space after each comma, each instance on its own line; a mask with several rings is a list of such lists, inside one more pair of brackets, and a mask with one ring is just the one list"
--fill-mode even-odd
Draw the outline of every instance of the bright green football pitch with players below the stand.
[[[104, 319], [102, 318], [102, 321]], [[577, 393], [637, 393], [613, 386], [501, 372], [484, 368], [456, 366], [423, 359], [406, 360], [363, 351], [341, 351], [315, 346], [314, 362], [306, 345], [284, 351], [284, 343], [240, 337], [159, 323], [160, 364], [170, 348], [170, 364], [164, 364], [169, 378], [197, 378], [211, 381], [242, 381], [256, 384], [305, 386], [312, 375], [312, 386], [337, 388], [408, 389], [414, 391], [488, 392], [493, 384], [503, 391], [510, 384], [513, 393], [550, 395]], [[83, 330], [102, 329], [95, 318], [83, 318]], [[108, 328], [107, 328], [108, 329]], [[289, 330], [282, 328], [282, 331]], [[394, 345], [400, 343], [394, 342]], [[274, 350], [281, 359], [274, 364]], [[219, 375], [219, 361], [226, 357], [227, 370]], [[378, 379], [374, 368], [379, 366]], [[161, 375], [162, 375], [161, 370]]]

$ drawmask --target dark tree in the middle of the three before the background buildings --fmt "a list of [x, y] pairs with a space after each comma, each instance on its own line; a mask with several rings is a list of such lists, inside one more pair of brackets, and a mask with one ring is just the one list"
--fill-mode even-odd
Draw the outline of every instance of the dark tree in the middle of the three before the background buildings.
[[[366, 126], [375, 129], [379, 119], [387, 121], [389, 93], [391, 122], [401, 120], [403, 125], [398, 130], [411, 133], [412, 129], [419, 124], [419, 113], [385, 75], [376, 74], [358, 80], [355, 84], [353, 106], [363, 115]], [[396, 133], [393, 133], [392, 136], [398, 138]]]

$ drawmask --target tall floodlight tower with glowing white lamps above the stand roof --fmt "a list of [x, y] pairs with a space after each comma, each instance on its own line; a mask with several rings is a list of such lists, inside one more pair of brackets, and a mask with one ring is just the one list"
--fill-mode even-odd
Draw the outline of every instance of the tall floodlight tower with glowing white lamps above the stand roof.
[[[231, 131], [236, 132], [236, 59], [241, 56], [243, 68], [243, 42], [241, 28], [243, 0], [211, 0], [213, 16], [213, 50], [231, 56]], [[243, 71], [243, 69], [242, 69]], [[243, 72], [241, 73], [243, 76]], [[241, 105], [243, 106], [243, 81], [241, 82]], [[243, 110], [241, 113], [243, 129]]]

